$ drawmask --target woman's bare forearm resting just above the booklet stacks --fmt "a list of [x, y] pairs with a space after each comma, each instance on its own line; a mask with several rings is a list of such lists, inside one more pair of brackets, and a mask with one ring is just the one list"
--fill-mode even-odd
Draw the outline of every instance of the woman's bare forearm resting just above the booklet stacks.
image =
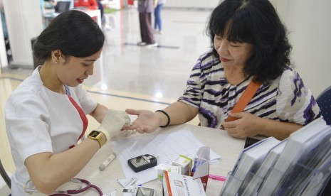
[[256, 134], [273, 136], [279, 140], [283, 140], [288, 138], [290, 134], [297, 131], [301, 127], [303, 127], [301, 124], [261, 118], [256, 126]]

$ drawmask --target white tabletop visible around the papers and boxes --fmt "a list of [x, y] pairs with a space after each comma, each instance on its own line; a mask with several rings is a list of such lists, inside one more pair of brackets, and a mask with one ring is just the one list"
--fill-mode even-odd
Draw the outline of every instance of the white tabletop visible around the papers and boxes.
[[[211, 129], [201, 126], [182, 124], [177, 126], [169, 126], [162, 129], [159, 134], [179, 130], [191, 131], [194, 136], [201, 141], [201, 143], [204, 143], [205, 146], [209, 146], [211, 150], [221, 156], [221, 160], [219, 160], [218, 163], [210, 165], [209, 173], [213, 175], [226, 176], [228, 172], [232, 170], [239, 154], [243, 150], [244, 140], [232, 138], [231, 136], [228, 136], [226, 131], [221, 129]], [[117, 190], [117, 195], [122, 195], [123, 187], [120, 183], [117, 183], [117, 179], [125, 179], [125, 175], [120, 165], [120, 160], [115, 158], [115, 160], [113, 160], [112, 163], [105, 168], [105, 170], [99, 170], [99, 165], [110, 155], [110, 149], [110, 143], [103, 146], [103, 148], [101, 148], [90, 160], [88, 165], [86, 165], [85, 168], [78, 173], [76, 178], [89, 180], [93, 185], [100, 187], [104, 194], [112, 192], [112, 190]], [[219, 195], [223, 183], [224, 182], [219, 180], [209, 178], [206, 188], [206, 195]], [[157, 190], [157, 195], [162, 195], [162, 185], [157, 183], [156, 179], [145, 183], [143, 186], [154, 188]], [[92, 191], [93, 190], [89, 190], [81, 195], [98, 195], [96, 193], [92, 193]]]

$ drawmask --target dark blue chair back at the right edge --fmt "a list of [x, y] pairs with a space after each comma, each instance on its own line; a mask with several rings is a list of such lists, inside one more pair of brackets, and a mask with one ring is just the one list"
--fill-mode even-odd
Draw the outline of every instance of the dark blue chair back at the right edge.
[[331, 125], [331, 86], [325, 89], [316, 99], [323, 119]]

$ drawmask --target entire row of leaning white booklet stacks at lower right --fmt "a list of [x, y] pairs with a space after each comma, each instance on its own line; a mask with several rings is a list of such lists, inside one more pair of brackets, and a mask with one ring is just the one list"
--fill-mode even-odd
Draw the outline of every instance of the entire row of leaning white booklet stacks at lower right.
[[331, 126], [324, 120], [312, 121], [281, 143], [263, 143], [244, 149], [221, 195], [317, 195], [329, 180]]

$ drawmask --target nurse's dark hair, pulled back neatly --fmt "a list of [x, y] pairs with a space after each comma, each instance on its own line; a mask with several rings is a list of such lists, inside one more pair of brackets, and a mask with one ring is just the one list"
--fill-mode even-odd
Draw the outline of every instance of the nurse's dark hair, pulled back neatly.
[[33, 43], [33, 56], [41, 64], [51, 58], [52, 50], [61, 50], [64, 57], [88, 57], [104, 43], [103, 31], [93, 18], [83, 11], [70, 10], [56, 16], [41, 32]]

